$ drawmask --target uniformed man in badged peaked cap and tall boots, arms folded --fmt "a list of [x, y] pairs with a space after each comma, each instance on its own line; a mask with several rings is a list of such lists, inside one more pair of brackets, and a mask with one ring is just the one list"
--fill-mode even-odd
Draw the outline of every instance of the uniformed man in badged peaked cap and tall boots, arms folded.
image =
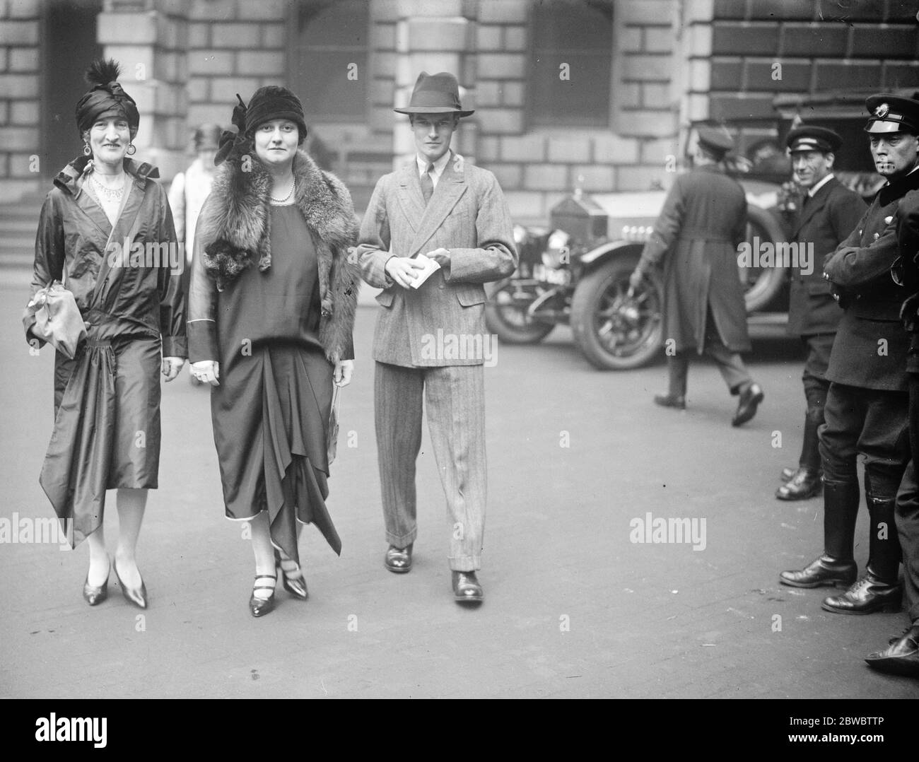
[[[830, 355], [831, 381], [821, 426], [823, 555], [780, 581], [797, 587], [849, 586], [823, 608], [841, 614], [899, 609], [900, 542], [893, 531], [894, 501], [910, 458], [906, 357], [909, 335], [900, 322], [908, 295], [891, 279], [899, 256], [896, 215], [900, 199], [919, 188], [916, 131], [919, 111], [908, 98], [872, 96], [865, 131], [881, 176], [888, 179], [855, 230], [823, 265], [844, 309]], [[914, 103], [914, 102], [913, 102]], [[919, 104], [917, 104], [919, 105]], [[858, 514], [856, 459], [865, 459], [870, 523], [868, 568], [855, 582], [853, 551]], [[854, 584], [853, 584], [854, 583]]]

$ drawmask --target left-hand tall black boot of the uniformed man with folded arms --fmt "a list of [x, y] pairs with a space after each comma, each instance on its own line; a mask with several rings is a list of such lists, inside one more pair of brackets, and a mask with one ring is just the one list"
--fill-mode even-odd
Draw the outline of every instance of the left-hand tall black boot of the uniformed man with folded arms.
[[792, 587], [845, 587], [858, 571], [855, 562], [858, 483], [823, 483], [823, 555], [800, 571], [782, 572], [778, 581]]

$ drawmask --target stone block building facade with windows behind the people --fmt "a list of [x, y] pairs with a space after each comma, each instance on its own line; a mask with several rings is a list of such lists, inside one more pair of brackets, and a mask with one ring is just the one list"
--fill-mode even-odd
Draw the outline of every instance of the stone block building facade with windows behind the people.
[[104, 52], [142, 114], [138, 156], [165, 178], [187, 163], [195, 125], [225, 125], [237, 93], [280, 83], [304, 99], [358, 206], [412, 151], [392, 108], [420, 71], [452, 71], [476, 109], [460, 153], [494, 171], [517, 219], [535, 221], [576, 185], [666, 186], [690, 120], [768, 117], [779, 93], [919, 88], [916, 10], [908, 0], [0, 0], [0, 200], [42, 192], [79, 151], [79, 74]]

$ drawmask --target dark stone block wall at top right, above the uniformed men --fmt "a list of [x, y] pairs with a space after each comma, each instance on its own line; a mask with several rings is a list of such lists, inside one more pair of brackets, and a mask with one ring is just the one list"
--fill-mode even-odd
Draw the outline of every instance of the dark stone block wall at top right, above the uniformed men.
[[[907, 0], [716, 0], [690, 65], [713, 119], [771, 117], [778, 94], [919, 87], [919, 6]], [[706, 76], [705, 74], [708, 74]]]

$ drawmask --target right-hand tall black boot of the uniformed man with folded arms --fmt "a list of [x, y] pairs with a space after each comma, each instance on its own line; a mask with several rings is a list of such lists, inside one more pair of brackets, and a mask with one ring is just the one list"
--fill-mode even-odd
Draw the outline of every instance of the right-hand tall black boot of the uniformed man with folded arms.
[[842, 596], [828, 597], [823, 608], [834, 614], [870, 614], [873, 611], [899, 611], [902, 586], [900, 538], [894, 518], [894, 498], [866, 493], [870, 529], [868, 568], [865, 575]]

